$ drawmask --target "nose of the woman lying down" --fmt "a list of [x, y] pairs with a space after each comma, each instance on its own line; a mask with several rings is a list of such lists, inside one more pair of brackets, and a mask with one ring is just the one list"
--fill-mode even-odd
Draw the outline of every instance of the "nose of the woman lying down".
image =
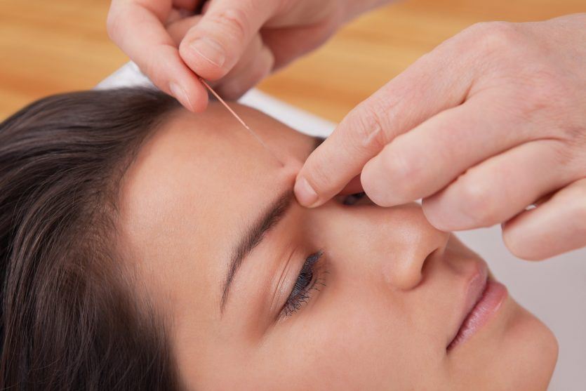
[[427, 256], [443, 251], [448, 241], [449, 234], [430, 225], [417, 204], [337, 209], [321, 211], [320, 236], [328, 252], [354, 275], [372, 274], [395, 289], [417, 286]]

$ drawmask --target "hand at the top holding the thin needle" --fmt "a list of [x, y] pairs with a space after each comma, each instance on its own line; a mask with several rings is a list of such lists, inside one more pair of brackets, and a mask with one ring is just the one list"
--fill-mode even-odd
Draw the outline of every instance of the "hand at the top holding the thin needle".
[[[387, 0], [388, 1], [388, 0]], [[188, 110], [205, 110], [197, 75], [239, 98], [272, 70], [321, 45], [340, 25], [385, 0], [112, 0], [107, 30], [149, 79]], [[204, 15], [168, 31], [178, 9]], [[220, 80], [221, 79], [221, 80]]]

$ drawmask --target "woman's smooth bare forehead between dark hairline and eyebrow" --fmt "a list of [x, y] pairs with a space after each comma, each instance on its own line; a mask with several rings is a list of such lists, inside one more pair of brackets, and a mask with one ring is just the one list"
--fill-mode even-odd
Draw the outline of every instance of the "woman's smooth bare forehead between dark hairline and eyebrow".
[[[293, 187], [312, 149], [312, 138], [255, 110], [239, 110], [274, 153], [284, 157], [285, 167], [224, 108], [211, 105], [204, 114], [174, 114], [124, 176], [121, 237], [141, 269], [159, 274], [156, 279], [217, 291], [225, 272], [220, 255], [275, 193]], [[202, 260], [209, 262], [203, 265]], [[180, 302], [175, 298], [174, 303]]]

